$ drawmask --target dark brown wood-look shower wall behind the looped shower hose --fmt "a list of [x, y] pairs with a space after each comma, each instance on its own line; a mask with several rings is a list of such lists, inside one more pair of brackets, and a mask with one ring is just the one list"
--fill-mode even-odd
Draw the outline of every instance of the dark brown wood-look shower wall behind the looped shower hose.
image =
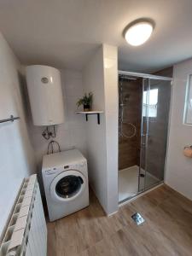
[[136, 126], [137, 133], [131, 138], [119, 136], [119, 170], [130, 166], [139, 166], [142, 115], [142, 80], [124, 80], [122, 83], [123, 98], [125, 99], [123, 131], [125, 135], [131, 136], [134, 131], [133, 127], [129, 125], [131, 123]]

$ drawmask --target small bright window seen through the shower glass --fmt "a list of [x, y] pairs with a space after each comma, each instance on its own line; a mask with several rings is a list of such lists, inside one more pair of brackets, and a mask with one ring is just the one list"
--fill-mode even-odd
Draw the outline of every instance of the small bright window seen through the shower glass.
[[149, 95], [147, 93], [147, 90], [144, 90], [143, 116], [147, 116], [148, 114], [148, 117], [154, 117], [154, 118], [157, 117], [157, 103], [158, 103], [158, 89], [149, 90]]

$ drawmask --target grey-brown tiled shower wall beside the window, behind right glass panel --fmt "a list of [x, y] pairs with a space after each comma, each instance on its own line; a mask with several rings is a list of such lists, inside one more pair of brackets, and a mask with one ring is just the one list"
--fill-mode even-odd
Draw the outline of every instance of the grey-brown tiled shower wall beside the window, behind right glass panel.
[[[155, 75], [172, 77], [172, 67], [161, 70]], [[147, 171], [154, 177], [163, 180], [172, 89], [169, 81], [151, 80], [150, 84], [151, 90], [158, 89], [158, 104], [157, 116], [148, 119]]]

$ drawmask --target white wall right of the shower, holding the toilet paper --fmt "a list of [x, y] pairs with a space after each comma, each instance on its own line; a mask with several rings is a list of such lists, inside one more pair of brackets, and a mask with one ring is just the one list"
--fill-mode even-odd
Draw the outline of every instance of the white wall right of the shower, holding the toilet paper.
[[192, 144], [192, 126], [183, 125], [185, 90], [192, 73], [192, 59], [173, 67], [173, 94], [170, 136], [168, 142], [166, 183], [192, 200], [192, 159], [183, 155], [183, 148]]

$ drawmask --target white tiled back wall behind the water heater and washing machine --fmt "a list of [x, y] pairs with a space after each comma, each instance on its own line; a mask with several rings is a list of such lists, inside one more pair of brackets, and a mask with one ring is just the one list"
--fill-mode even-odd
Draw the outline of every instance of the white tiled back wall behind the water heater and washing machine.
[[[72, 70], [61, 70], [61, 84], [64, 97], [65, 123], [56, 125], [55, 141], [60, 143], [61, 150], [79, 148], [86, 156], [86, 142], [84, 124], [85, 120], [77, 110], [76, 102], [83, 95], [82, 74]], [[38, 171], [41, 171], [42, 157], [47, 154], [49, 141], [42, 137], [44, 126], [30, 125], [32, 134], [32, 144], [38, 161]], [[52, 138], [53, 139], [53, 138]]]

